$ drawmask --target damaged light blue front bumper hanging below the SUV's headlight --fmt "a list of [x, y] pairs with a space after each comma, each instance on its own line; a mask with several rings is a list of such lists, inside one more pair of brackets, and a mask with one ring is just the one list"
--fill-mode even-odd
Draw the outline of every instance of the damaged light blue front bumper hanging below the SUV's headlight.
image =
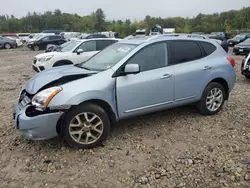
[[20, 108], [17, 104], [13, 109], [16, 129], [31, 140], [47, 140], [58, 136], [57, 123], [64, 112], [29, 114], [31, 105]]

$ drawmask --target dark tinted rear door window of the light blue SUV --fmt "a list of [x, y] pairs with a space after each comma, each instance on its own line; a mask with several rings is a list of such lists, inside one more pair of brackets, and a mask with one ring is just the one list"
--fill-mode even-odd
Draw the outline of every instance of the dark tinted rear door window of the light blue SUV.
[[171, 41], [175, 63], [184, 63], [202, 58], [202, 52], [195, 41]]

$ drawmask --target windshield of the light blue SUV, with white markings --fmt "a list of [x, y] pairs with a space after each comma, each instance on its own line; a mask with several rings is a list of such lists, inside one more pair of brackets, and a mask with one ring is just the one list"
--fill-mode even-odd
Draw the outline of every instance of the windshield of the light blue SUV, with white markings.
[[118, 63], [135, 47], [134, 44], [115, 43], [78, 66], [90, 70], [106, 70]]

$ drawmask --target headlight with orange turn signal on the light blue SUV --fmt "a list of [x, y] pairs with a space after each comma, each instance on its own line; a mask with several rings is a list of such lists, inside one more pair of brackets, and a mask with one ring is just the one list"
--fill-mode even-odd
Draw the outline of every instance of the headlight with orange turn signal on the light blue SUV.
[[32, 105], [37, 108], [44, 109], [48, 107], [51, 99], [61, 91], [61, 87], [51, 87], [40, 91], [32, 98]]

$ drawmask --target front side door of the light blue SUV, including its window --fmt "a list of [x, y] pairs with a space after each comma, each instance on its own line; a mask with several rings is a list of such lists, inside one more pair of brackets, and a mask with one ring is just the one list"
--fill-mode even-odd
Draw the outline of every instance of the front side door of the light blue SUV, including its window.
[[139, 64], [140, 73], [117, 77], [120, 118], [150, 113], [173, 105], [174, 71], [168, 66], [167, 43], [141, 49], [126, 64]]

